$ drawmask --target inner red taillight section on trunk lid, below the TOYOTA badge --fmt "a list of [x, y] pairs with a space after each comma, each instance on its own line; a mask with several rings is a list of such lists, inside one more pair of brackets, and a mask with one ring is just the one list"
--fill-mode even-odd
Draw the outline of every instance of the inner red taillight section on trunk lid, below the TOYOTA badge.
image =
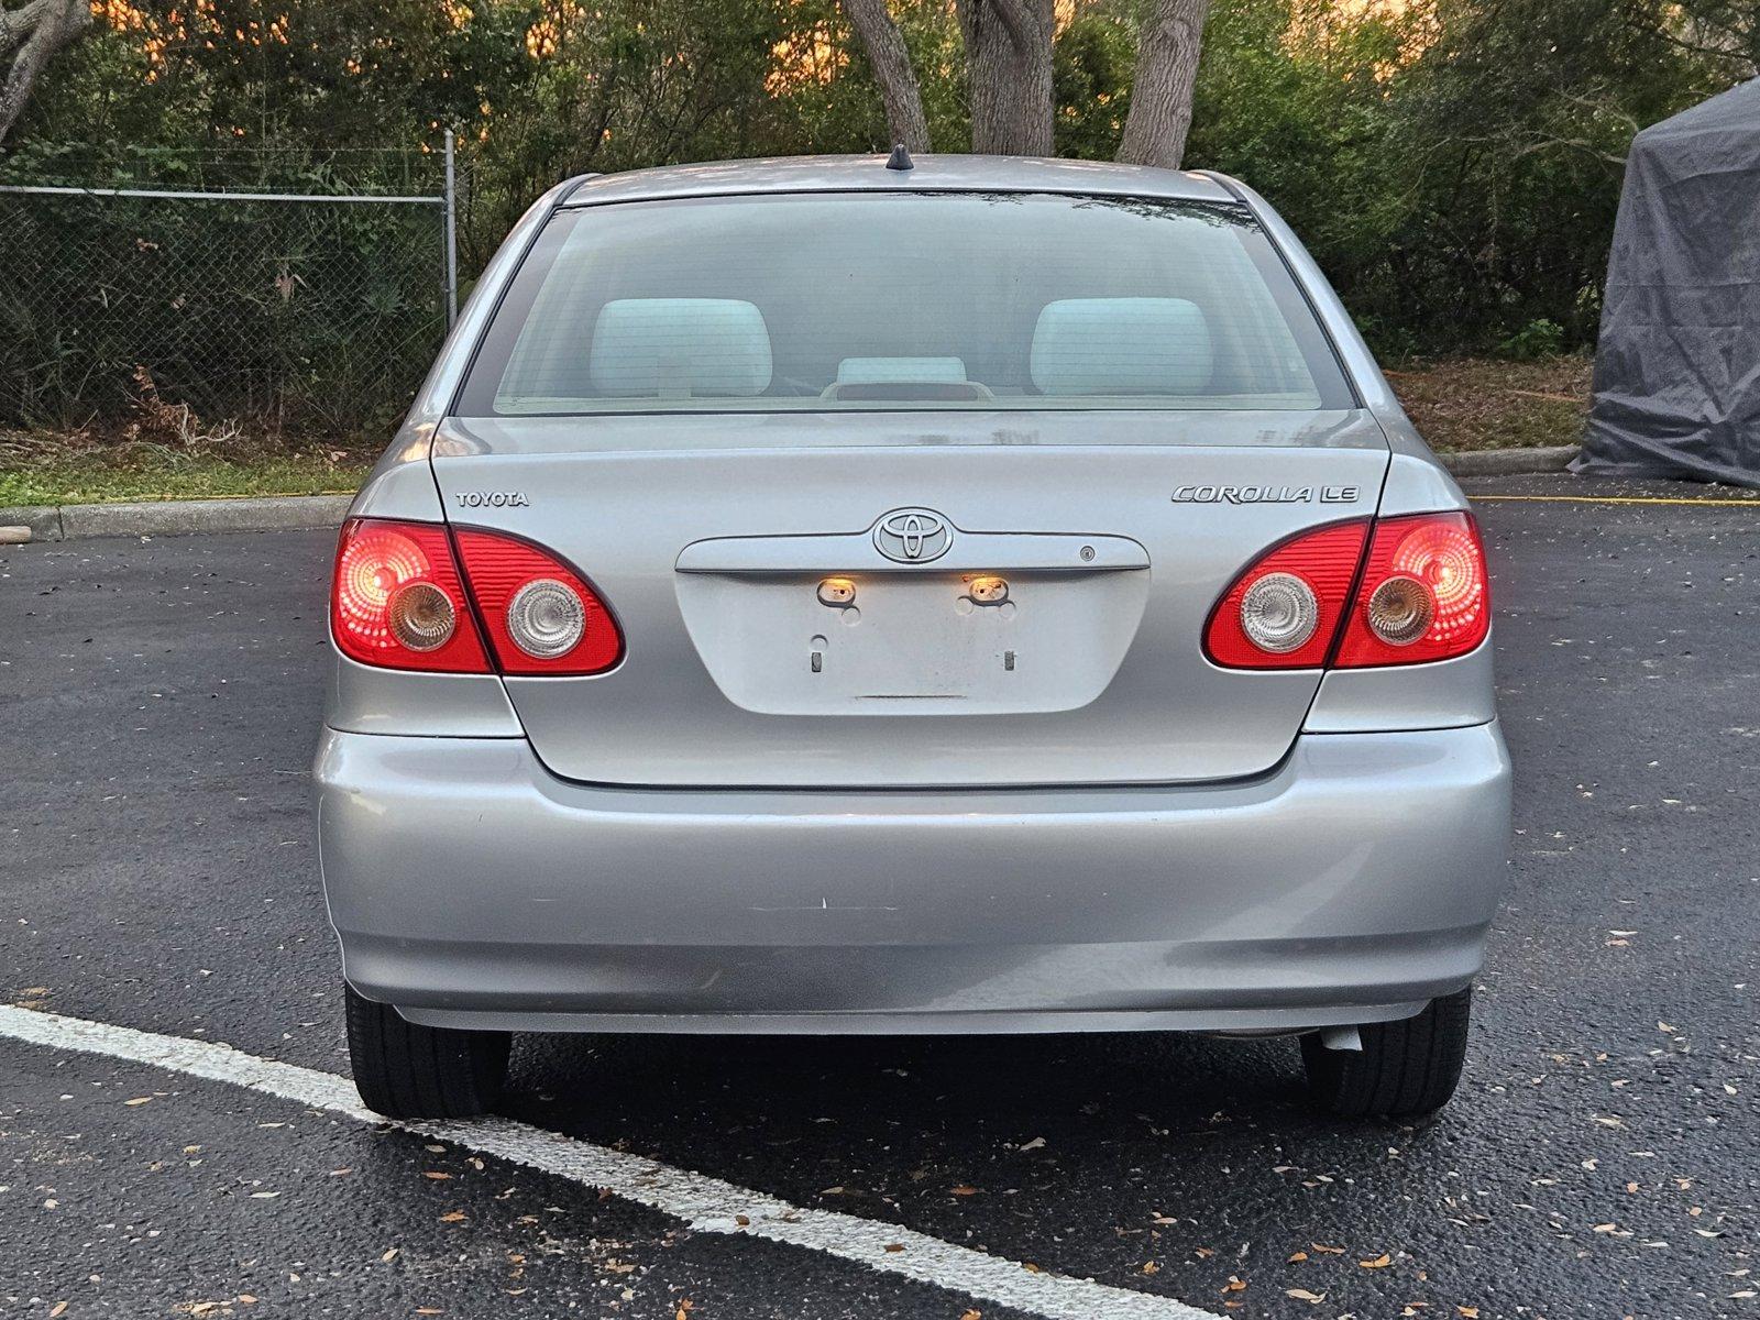
[[495, 532], [456, 537], [503, 674], [600, 674], [623, 658], [618, 621], [567, 563]]

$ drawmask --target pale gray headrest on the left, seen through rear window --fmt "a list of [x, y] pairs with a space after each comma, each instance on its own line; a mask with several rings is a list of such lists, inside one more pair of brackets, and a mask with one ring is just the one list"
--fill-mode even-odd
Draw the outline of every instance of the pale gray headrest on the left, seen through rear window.
[[750, 398], [769, 389], [769, 329], [736, 297], [618, 297], [593, 326], [588, 378], [621, 398]]

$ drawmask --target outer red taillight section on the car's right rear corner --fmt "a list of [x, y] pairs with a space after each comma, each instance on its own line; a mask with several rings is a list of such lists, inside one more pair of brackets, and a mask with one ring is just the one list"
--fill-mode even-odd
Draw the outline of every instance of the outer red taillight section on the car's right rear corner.
[[1466, 655], [1491, 630], [1485, 547], [1471, 514], [1375, 524], [1362, 584], [1339, 642], [1339, 669], [1415, 665]]

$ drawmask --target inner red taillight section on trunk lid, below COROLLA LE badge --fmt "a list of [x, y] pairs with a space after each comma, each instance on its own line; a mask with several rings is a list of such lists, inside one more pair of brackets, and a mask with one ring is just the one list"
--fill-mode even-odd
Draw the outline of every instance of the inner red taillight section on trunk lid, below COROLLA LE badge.
[[1368, 523], [1334, 523], [1257, 560], [1211, 611], [1209, 658], [1227, 669], [1324, 665], [1368, 535]]

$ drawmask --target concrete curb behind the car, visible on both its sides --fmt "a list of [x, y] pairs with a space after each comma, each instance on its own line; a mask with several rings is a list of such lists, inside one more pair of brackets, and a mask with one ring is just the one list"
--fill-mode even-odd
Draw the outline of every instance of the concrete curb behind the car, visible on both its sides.
[[[1575, 456], [1577, 445], [1552, 445], [1443, 454], [1441, 461], [1456, 477], [1512, 477], [1526, 472], [1563, 472]], [[253, 500], [25, 505], [0, 509], [0, 528], [26, 526], [32, 540], [292, 532], [340, 526], [352, 498], [350, 495], [271, 495]]]

